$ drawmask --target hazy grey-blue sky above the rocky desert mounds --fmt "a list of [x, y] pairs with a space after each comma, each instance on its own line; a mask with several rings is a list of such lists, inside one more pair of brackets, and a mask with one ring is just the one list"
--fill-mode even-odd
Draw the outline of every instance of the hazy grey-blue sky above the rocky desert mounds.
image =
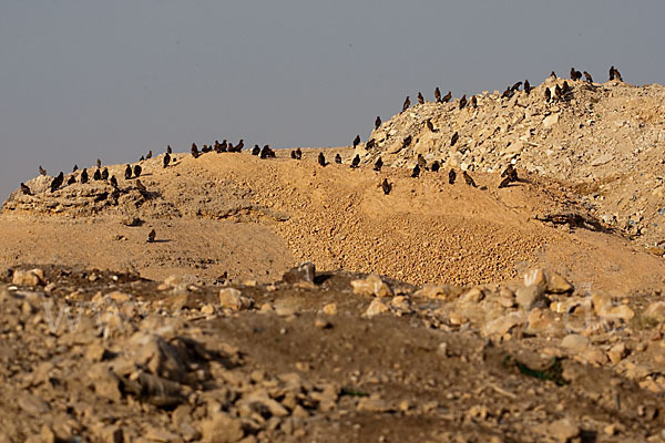
[[166, 144], [365, 141], [407, 94], [503, 90], [574, 65], [663, 83], [665, 2], [0, 1], [0, 199]]

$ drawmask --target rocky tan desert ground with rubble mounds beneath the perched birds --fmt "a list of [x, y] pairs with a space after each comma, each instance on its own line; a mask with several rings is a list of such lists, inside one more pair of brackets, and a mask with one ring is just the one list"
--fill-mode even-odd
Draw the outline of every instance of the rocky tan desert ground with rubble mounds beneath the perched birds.
[[0, 442], [665, 441], [664, 116], [661, 85], [549, 78], [301, 159], [29, 179]]

